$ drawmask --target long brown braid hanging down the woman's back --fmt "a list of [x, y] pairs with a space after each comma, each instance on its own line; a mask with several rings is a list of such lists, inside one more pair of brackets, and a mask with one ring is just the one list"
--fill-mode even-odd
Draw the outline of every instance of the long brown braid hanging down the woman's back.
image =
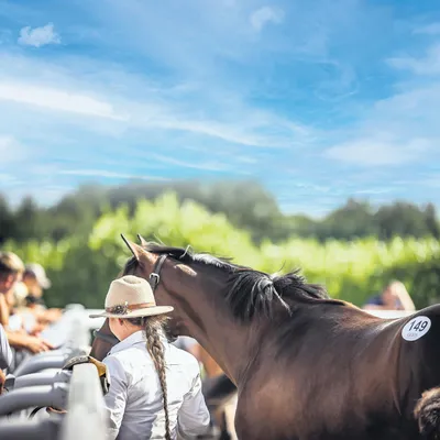
[[161, 334], [164, 331], [164, 322], [167, 318], [158, 316], [151, 318], [132, 318], [128, 319], [134, 324], [142, 324], [146, 336], [146, 350], [153, 359], [154, 366], [158, 375], [158, 380], [162, 388], [162, 398], [164, 403], [165, 411], [165, 440], [172, 440], [169, 431], [169, 416], [168, 416], [168, 388], [166, 384], [166, 365], [165, 365], [165, 352], [164, 344], [161, 341]]

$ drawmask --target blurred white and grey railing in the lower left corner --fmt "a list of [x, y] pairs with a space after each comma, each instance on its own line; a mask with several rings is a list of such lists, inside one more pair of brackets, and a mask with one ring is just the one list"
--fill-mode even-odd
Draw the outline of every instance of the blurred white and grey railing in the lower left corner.
[[[59, 349], [29, 355], [8, 375], [8, 392], [0, 396], [1, 439], [106, 438], [107, 420], [97, 367], [87, 363], [75, 365], [73, 371], [62, 370], [69, 359], [89, 353], [94, 324], [84, 307], [69, 306], [44, 334]], [[67, 413], [37, 411], [46, 407], [65, 408]], [[37, 411], [33, 419], [29, 417], [31, 411]]]

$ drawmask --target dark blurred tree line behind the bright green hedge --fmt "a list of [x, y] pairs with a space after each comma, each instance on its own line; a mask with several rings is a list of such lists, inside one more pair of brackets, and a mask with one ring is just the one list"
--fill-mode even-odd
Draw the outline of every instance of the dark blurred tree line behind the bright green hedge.
[[0, 194], [0, 244], [7, 240], [59, 241], [70, 235], [87, 235], [95, 221], [122, 205], [132, 213], [139, 200], [154, 200], [173, 191], [179, 201], [194, 200], [212, 213], [224, 213], [231, 223], [248, 230], [255, 243], [264, 239], [282, 242], [289, 237], [354, 240], [375, 237], [440, 237], [432, 204], [417, 206], [404, 200], [373, 207], [365, 200], [349, 199], [322, 219], [305, 215], [284, 215], [274, 197], [257, 182], [129, 183], [123, 186], [84, 185], [52, 207], [40, 207], [31, 197], [12, 209]]

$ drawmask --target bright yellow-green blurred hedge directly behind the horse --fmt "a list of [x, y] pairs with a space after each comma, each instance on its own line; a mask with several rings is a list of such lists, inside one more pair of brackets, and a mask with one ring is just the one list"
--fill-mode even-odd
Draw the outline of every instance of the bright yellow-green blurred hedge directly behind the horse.
[[433, 238], [383, 242], [370, 237], [324, 243], [299, 238], [276, 243], [266, 238], [256, 244], [250, 231], [235, 228], [224, 213], [211, 213], [191, 199], [179, 201], [174, 193], [134, 207], [108, 209], [87, 235], [58, 242], [9, 241], [6, 248], [47, 268], [53, 279], [48, 304], [81, 302], [95, 308], [102, 307], [109, 283], [130, 256], [121, 233], [132, 240], [140, 233], [169, 245], [191, 245], [267, 273], [300, 267], [309, 282], [324, 284], [332, 297], [359, 306], [392, 278], [406, 284], [419, 308], [438, 297], [440, 244]]

